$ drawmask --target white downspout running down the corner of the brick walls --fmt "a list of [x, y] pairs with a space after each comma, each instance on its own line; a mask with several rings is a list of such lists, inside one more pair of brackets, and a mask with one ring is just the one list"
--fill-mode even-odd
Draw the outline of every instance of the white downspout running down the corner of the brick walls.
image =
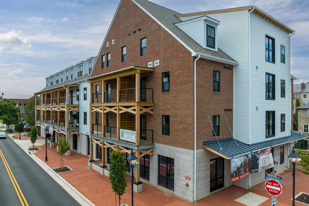
[[194, 203], [196, 203], [196, 61], [201, 57], [194, 60]]

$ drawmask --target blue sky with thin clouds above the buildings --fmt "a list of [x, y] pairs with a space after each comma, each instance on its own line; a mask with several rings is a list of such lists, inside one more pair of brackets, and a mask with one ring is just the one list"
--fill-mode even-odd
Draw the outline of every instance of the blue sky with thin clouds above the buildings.
[[[309, 0], [150, 0], [179, 13], [255, 5], [295, 30], [291, 74], [309, 82]], [[1, 0], [0, 92], [32, 95], [45, 77], [95, 57], [120, 0]]]

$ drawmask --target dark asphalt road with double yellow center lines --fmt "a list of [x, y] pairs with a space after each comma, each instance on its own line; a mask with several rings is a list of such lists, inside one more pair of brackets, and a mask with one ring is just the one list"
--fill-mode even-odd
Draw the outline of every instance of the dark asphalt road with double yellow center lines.
[[13, 140], [0, 139], [0, 206], [19, 205], [80, 204]]

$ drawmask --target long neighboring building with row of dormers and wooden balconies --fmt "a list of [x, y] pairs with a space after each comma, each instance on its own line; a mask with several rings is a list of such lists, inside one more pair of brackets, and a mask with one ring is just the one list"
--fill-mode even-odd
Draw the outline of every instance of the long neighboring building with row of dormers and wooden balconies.
[[[66, 136], [71, 150], [89, 154], [90, 84], [87, 78], [96, 57], [90, 57], [46, 78], [46, 87], [35, 93], [36, 126], [44, 134], [53, 125], [51, 141]], [[41, 100], [38, 100], [40, 98]], [[88, 140], [88, 141], [87, 141]]]

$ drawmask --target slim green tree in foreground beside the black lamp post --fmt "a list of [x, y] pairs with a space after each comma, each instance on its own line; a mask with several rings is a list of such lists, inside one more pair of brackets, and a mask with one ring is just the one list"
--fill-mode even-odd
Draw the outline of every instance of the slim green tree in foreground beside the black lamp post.
[[[108, 178], [110, 183], [112, 184], [112, 190], [118, 195], [119, 205], [120, 205], [120, 196], [125, 193], [125, 188], [127, 187], [127, 162], [123, 153], [120, 151], [113, 150], [110, 153], [110, 161], [109, 164], [109, 174]], [[132, 186], [133, 187], [133, 186]]]

